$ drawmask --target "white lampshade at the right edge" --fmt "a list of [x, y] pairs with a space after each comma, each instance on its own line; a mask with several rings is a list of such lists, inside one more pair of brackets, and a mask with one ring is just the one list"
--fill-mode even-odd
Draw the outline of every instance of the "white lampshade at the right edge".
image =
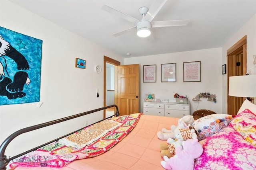
[[248, 98], [256, 97], [256, 75], [230, 76], [228, 95]]

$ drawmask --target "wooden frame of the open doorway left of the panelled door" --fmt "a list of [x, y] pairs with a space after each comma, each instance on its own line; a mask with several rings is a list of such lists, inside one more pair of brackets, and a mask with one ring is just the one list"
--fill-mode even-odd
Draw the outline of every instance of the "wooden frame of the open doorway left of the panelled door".
[[[114, 102], [115, 104], [117, 104], [117, 66], [120, 65], [120, 62], [119, 61], [116, 61], [114, 59], [111, 59], [107, 56], [104, 55], [104, 92], [103, 92], [103, 106], [105, 107], [106, 106], [106, 63], [109, 63], [109, 64], [113, 64], [115, 66], [115, 99], [114, 99]], [[106, 110], [104, 109], [104, 119], [106, 118]]]

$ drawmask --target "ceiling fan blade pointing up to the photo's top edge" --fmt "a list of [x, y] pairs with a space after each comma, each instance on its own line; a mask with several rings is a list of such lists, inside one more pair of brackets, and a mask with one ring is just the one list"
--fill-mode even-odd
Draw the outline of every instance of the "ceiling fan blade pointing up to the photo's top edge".
[[142, 20], [152, 21], [156, 14], [161, 10], [167, 0], [155, 0]]

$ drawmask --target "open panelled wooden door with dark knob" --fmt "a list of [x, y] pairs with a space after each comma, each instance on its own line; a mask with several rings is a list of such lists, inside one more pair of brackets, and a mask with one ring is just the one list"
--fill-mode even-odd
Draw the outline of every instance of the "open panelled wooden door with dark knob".
[[118, 66], [117, 95], [120, 115], [139, 112], [139, 64]]

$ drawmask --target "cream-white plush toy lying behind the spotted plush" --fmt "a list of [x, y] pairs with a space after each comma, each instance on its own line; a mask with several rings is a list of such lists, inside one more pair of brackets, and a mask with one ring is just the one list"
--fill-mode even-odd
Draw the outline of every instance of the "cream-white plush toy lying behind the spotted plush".
[[[180, 125], [181, 122], [186, 123], [186, 125], [192, 125], [192, 123], [194, 122], [194, 117], [192, 115], [183, 116], [178, 120], [178, 125]], [[170, 130], [163, 128], [162, 131], [159, 131], [157, 133], [158, 138], [164, 141], [168, 140], [169, 138], [175, 139], [174, 130], [176, 129], [176, 127], [177, 126], [172, 125]]]

